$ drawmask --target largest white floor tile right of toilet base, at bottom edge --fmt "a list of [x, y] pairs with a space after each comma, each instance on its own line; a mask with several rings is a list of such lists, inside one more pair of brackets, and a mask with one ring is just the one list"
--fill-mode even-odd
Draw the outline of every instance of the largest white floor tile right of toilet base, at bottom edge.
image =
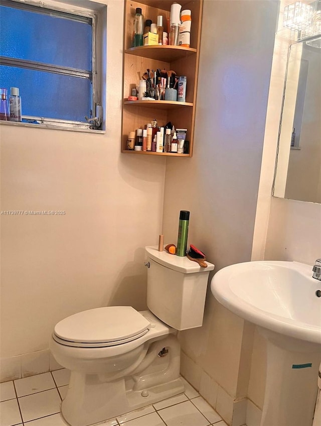
[[210, 423], [191, 401], [158, 411], [167, 426], [208, 426]]

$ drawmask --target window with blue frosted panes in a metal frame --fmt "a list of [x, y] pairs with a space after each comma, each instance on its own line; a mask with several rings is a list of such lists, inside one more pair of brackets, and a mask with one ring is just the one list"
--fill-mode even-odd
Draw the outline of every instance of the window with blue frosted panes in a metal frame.
[[1, 1], [0, 86], [19, 88], [25, 122], [98, 129], [96, 16], [42, 6]]

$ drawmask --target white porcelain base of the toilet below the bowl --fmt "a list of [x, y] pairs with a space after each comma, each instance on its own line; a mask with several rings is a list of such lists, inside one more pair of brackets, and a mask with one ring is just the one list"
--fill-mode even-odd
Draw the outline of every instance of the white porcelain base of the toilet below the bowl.
[[[168, 356], [160, 356], [167, 348]], [[150, 341], [140, 363], [111, 380], [108, 373], [71, 371], [61, 413], [71, 426], [89, 426], [184, 392], [175, 336]]]

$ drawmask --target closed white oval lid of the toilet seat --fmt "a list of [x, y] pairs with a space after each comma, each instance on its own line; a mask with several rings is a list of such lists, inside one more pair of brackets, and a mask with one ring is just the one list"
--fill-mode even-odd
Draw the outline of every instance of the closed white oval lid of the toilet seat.
[[69, 342], [117, 344], [140, 337], [149, 327], [150, 322], [133, 307], [107, 306], [68, 316], [56, 325], [54, 334]]

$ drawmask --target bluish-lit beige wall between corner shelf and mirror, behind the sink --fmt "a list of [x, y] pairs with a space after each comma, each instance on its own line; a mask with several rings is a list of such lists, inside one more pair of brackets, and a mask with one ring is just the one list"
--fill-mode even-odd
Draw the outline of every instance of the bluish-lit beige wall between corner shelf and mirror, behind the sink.
[[[270, 1], [204, 2], [194, 153], [167, 161], [163, 231], [175, 243], [179, 210], [190, 210], [189, 244], [215, 271], [251, 260], [277, 10]], [[180, 333], [183, 368], [192, 362], [197, 388], [204, 374], [219, 384], [214, 403], [228, 421], [219, 405], [247, 391], [253, 330], [244, 327], [208, 292], [202, 329]]]

